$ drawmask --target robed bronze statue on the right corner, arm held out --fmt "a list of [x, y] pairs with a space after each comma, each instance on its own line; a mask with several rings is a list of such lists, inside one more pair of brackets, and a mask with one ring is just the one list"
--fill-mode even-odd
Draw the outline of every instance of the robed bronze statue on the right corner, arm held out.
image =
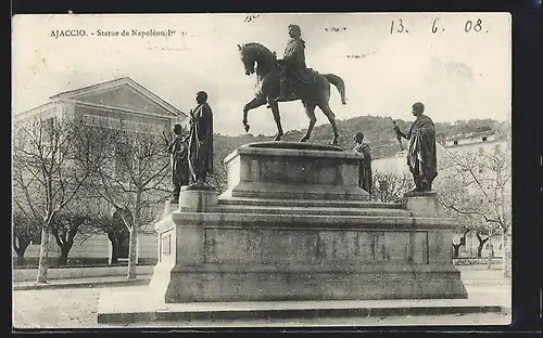
[[408, 140], [407, 166], [415, 180], [414, 192], [429, 192], [438, 176], [438, 159], [435, 154], [435, 127], [428, 116], [424, 115], [425, 105], [420, 102], [413, 106], [413, 115], [417, 117], [407, 134], [394, 127], [396, 135]]

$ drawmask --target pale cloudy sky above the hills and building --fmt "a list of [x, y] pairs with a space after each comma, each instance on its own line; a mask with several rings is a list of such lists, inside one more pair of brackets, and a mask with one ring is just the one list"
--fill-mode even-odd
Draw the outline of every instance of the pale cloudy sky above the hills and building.
[[[346, 105], [331, 88], [330, 106], [338, 119], [372, 115], [411, 120], [417, 101], [435, 122], [510, 118], [508, 13], [260, 13], [251, 22], [247, 15], [17, 15], [12, 24], [13, 114], [59, 92], [128, 76], [182, 112], [194, 107], [197, 91], [205, 90], [215, 132], [243, 134], [242, 108], [254, 96], [256, 76], [244, 74], [238, 44], [260, 42], [282, 57], [287, 27], [298, 24], [307, 67], [345, 82]], [[56, 29], [85, 29], [87, 35], [51, 37]], [[108, 37], [98, 36], [98, 29], [175, 34]], [[281, 103], [280, 113], [285, 131], [307, 128], [300, 101]], [[327, 123], [318, 108], [316, 116], [317, 125]], [[265, 106], [249, 113], [249, 123], [254, 134], [276, 132]]]

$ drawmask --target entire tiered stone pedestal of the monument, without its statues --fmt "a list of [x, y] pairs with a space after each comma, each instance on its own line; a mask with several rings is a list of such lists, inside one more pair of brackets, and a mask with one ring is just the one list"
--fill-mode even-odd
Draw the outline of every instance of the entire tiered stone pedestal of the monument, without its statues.
[[187, 198], [155, 226], [154, 297], [166, 303], [467, 297], [452, 261], [455, 224], [432, 214], [434, 196], [369, 202], [357, 186], [355, 154], [289, 146], [250, 144], [228, 156], [228, 191], [216, 204], [189, 198], [209, 192], [181, 192]]

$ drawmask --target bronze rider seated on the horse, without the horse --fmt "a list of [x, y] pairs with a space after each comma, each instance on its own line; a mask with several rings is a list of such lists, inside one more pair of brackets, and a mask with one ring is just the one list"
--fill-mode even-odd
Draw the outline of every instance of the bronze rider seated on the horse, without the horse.
[[[298, 25], [289, 25], [290, 40], [285, 49], [285, 56], [281, 61], [282, 67], [279, 75], [279, 83], [281, 91], [275, 100], [277, 102], [286, 102], [295, 100], [295, 94], [292, 92], [290, 79], [306, 82], [304, 75], [305, 66], [305, 41], [302, 40], [302, 30]], [[290, 79], [289, 79], [290, 78]]]

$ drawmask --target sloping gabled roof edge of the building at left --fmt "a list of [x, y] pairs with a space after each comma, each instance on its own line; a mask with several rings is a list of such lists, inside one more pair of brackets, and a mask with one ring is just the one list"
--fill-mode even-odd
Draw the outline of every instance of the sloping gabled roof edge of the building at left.
[[92, 94], [92, 93], [97, 93], [97, 92], [101, 92], [101, 91], [105, 91], [105, 90], [110, 90], [112, 88], [116, 88], [116, 87], [119, 87], [123, 84], [128, 86], [128, 87], [132, 88], [134, 90], [136, 90], [138, 93], [142, 94], [143, 96], [147, 96], [148, 99], [150, 99], [151, 101], [156, 103], [159, 106], [161, 106], [162, 108], [164, 108], [166, 112], [171, 113], [172, 115], [175, 115], [178, 117], [187, 117], [187, 114], [185, 114], [184, 112], [174, 107], [173, 105], [171, 105], [169, 103], [167, 103], [166, 101], [161, 99], [159, 95], [154, 94], [153, 92], [151, 92], [150, 90], [148, 90], [147, 88], [144, 88], [143, 86], [136, 82], [135, 80], [132, 80], [129, 77], [116, 78], [116, 79], [113, 79], [110, 81], [100, 82], [100, 83], [96, 83], [92, 86], [83, 87], [79, 89], [64, 91], [64, 92], [58, 93], [56, 95], [50, 96], [49, 99], [51, 99], [53, 101], [55, 101], [55, 100], [77, 100], [77, 98]]

